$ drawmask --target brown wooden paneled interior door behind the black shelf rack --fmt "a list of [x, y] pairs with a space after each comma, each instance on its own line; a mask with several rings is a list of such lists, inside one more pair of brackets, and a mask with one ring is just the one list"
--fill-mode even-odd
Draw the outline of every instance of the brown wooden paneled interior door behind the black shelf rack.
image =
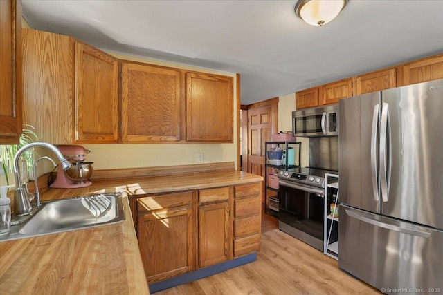
[[[248, 110], [248, 172], [266, 177], [264, 166], [264, 143], [271, 141], [272, 107]], [[262, 203], [264, 203], [264, 182], [262, 182]]]

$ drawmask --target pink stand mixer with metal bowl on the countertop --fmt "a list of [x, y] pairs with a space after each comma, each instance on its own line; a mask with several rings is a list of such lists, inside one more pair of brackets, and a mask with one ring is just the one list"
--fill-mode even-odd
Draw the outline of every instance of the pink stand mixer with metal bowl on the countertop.
[[73, 167], [69, 171], [64, 171], [61, 165], [57, 168], [57, 178], [49, 187], [61, 189], [73, 189], [77, 187], [89, 187], [92, 182], [89, 178], [92, 175], [93, 162], [84, 162], [89, 150], [83, 146], [59, 145], [57, 146], [66, 160], [69, 160]]

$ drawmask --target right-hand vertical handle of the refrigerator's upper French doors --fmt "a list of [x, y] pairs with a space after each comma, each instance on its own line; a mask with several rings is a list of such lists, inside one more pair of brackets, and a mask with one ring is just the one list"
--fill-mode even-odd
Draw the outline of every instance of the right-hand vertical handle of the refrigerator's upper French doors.
[[381, 108], [380, 124], [380, 186], [383, 202], [388, 202], [391, 154], [389, 105], [385, 102]]

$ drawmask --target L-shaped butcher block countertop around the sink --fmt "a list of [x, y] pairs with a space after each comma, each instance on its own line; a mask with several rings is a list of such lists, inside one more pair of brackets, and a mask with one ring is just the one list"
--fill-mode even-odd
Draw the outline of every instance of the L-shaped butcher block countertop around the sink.
[[[121, 175], [136, 175], [134, 171]], [[80, 189], [39, 187], [41, 198], [118, 191], [124, 196], [125, 221], [0, 242], [0, 294], [149, 294], [127, 198], [263, 180], [235, 170], [132, 178], [116, 178], [118, 173], [112, 171], [113, 180], [105, 180], [105, 174], [98, 173], [102, 180], [92, 179], [90, 187]]]

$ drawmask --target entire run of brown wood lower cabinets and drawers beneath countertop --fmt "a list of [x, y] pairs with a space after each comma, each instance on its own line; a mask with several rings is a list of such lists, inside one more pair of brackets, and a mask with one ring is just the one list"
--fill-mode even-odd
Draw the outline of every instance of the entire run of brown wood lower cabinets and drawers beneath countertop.
[[261, 182], [145, 195], [129, 204], [147, 283], [260, 251]]

